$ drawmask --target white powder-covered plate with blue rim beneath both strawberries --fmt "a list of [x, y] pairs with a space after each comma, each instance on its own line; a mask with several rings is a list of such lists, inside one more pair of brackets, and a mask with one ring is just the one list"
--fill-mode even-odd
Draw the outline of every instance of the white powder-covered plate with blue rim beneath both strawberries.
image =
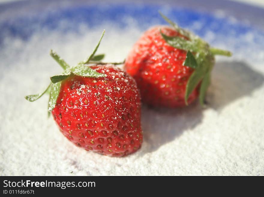
[[[207, 108], [143, 105], [140, 151], [111, 158], [76, 148], [46, 118], [45, 88], [60, 68], [98, 53], [122, 61], [140, 35], [166, 24], [158, 10], [212, 46], [217, 57]], [[245, 15], [245, 11], [247, 15]], [[1, 175], [264, 175], [264, 10], [230, 1], [18, 1], [0, 4]]]

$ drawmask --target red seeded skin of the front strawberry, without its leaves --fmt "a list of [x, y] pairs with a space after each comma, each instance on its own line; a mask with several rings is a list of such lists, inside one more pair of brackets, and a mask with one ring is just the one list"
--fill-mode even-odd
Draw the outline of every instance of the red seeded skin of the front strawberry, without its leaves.
[[64, 80], [52, 110], [60, 131], [87, 151], [122, 157], [141, 147], [140, 93], [135, 80], [111, 65], [91, 66], [106, 77]]

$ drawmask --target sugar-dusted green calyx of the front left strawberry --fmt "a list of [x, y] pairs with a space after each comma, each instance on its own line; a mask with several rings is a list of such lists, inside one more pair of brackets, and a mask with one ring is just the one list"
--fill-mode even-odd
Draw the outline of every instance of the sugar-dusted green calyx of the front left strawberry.
[[95, 53], [100, 45], [104, 33], [105, 30], [103, 31], [101, 38], [98, 44], [96, 45], [95, 49], [93, 50], [92, 54], [85, 61], [80, 62], [74, 67], [70, 67], [62, 58], [60, 58], [60, 56], [56, 52], [51, 50], [50, 51], [51, 57], [63, 68], [64, 72], [60, 75], [50, 77], [51, 82], [43, 93], [28, 95], [25, 97], [26, 100], [33, 102], [35, 100], [38, 100], [45, 93], [48, 93], [49, 94], [48, 111], [50, 114], [50, 112], [54, 109], [56, 105], [61, 88], [61, 82], [63, 80], [73, 75], [83, 76], [83, 77], [105, 77], [106, 76], [105, 74], [98, 73], [95, 70], [91, 69], [91, 67], [85, 66], [85, 64], [101, 64], [100, 61], [104, 58], [105, 55], [104, 54], [95, 55]]

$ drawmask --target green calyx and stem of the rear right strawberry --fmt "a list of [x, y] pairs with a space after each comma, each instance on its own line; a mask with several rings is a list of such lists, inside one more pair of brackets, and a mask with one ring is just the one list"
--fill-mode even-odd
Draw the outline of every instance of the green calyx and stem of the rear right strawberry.
[[231, 52], [211, 48], [208, 43], [196, 36], [192, 32], [180, 28], [176, 23], [172, 22], [162, 13], [160, 15], [170, 24], [173, 28], [179, 32], [183, 37], [170, 37], [162, 33], [163, 39], [174, 48], [187, 51], [186, 59], [183, 63], [184, 66], [188, 66], [194, 69], [193, 73], [188, 79], [185, 91], [185, 104], [188, 105], [187, 100], [193, 90], [200, 84], [199, 102], [203, 106], [205, 93], [210, 85], [211, 71], [214, 66], [214, 55], [224, 55], [230, 57]]

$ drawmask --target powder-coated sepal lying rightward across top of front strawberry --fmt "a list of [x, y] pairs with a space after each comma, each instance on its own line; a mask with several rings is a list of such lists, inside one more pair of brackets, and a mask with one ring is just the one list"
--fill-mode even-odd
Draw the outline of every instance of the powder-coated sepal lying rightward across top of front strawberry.
[[88, 66], [85, 66], [83, 64], [78, 64], [77, 66], [73, 67], [71, 69], [71, 72], [78, 76], [83, 77], [105, 77], [105, 74], [101, 74], [96, 72], [94, 69], [91, 69]]

